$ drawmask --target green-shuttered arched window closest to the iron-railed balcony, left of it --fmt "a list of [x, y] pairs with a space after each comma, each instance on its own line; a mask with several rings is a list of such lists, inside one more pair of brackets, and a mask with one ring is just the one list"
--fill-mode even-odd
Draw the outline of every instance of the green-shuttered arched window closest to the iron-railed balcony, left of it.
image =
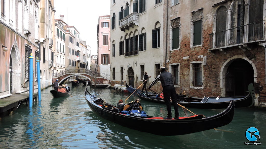
[[194, 12], [192, 16], [192, 45], [197, 46], [202, 45], [202, 18], [203, 15], [201, 11]]

